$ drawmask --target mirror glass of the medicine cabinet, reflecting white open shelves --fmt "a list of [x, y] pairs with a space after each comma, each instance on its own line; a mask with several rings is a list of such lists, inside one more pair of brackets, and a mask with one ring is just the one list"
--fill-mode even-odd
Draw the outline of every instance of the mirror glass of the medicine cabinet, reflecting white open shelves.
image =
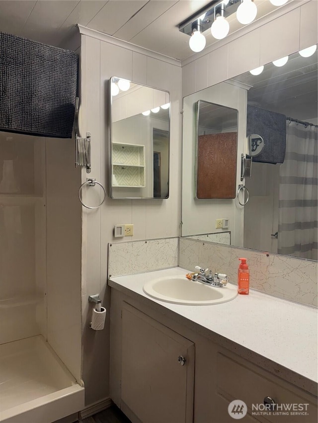
[[110, 79], [111, 198], [168, 198], [170, 96]]

